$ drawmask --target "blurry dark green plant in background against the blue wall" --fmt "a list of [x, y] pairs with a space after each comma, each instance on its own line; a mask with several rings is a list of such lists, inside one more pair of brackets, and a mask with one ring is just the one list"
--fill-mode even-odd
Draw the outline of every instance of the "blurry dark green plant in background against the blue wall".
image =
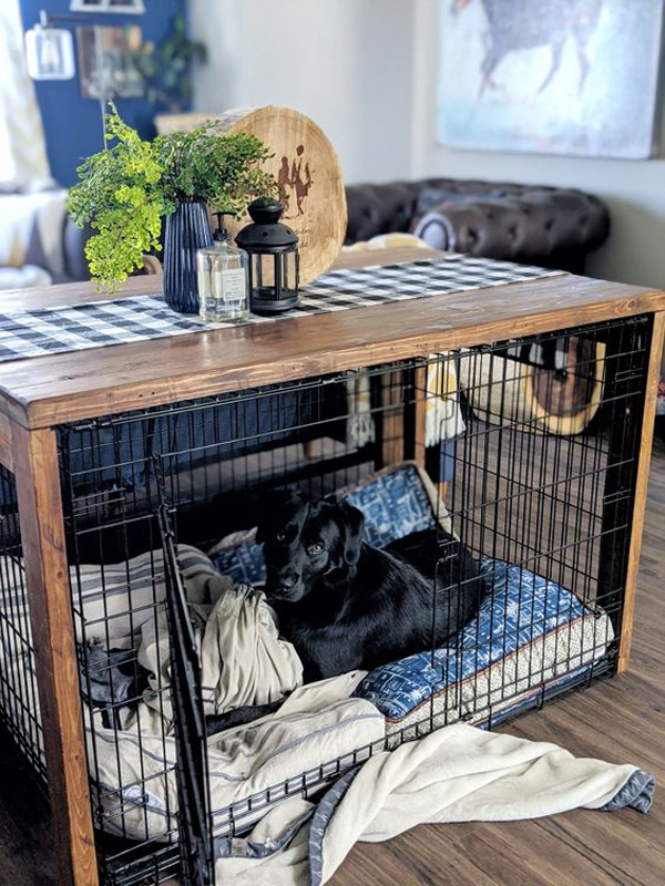
[[143, 43], [133, 61], [145, 83], [149, 102], [177, 113], [192, 100], [192, 63], [205, 63], [207, 50], [203, 43], [187, 37], [184, 17], [174, 16], [166, 39], [157, 45]]

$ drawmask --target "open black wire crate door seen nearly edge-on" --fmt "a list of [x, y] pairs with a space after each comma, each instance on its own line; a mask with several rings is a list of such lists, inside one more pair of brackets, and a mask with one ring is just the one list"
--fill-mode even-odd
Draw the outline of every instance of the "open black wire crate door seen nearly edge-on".
[[163, 491], [160, 501], [160, 530], [164, 547], [166, 611], [171, 633], [171, 691], [176, 748], [181, 880], [187, 886], [214, 886], [201, 664], [177, 560], [171, 512]]

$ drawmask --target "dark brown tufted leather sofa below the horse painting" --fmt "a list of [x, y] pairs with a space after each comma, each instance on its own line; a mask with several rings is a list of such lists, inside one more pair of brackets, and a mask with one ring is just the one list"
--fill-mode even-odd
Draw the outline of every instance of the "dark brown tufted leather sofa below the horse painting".
[[[418, 212], [419, 198], [438, 205]], [[351, 185], [346, 243], [411, 231], [430, 246], [581, 274], [610, 233], [607, 207], [582, 190], [453, 178]]]

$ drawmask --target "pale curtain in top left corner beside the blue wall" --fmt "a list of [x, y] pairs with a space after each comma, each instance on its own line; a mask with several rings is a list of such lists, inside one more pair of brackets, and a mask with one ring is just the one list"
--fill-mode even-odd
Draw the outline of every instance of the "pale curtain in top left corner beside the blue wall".
[[17, 185], [50, 176], [23, 40], [19, 0], [0, 0], [0, 182]]

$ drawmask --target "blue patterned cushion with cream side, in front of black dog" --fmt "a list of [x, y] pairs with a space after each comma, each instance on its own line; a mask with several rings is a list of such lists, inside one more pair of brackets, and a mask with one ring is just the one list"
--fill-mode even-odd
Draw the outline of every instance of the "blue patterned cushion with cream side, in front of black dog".
[[[605, 653], [613, 633], [604, 612], [519, 566], [485, 559], [481, 569], [487, 595], [453, 646], [436, 650], [433, 661], [419, 652], [377, 668], [356, 690], [389, 721], [403, 724], [430, 699], [446, 722], [481, 719]], [[420, 718], [428, 714], [429, 704]]]

